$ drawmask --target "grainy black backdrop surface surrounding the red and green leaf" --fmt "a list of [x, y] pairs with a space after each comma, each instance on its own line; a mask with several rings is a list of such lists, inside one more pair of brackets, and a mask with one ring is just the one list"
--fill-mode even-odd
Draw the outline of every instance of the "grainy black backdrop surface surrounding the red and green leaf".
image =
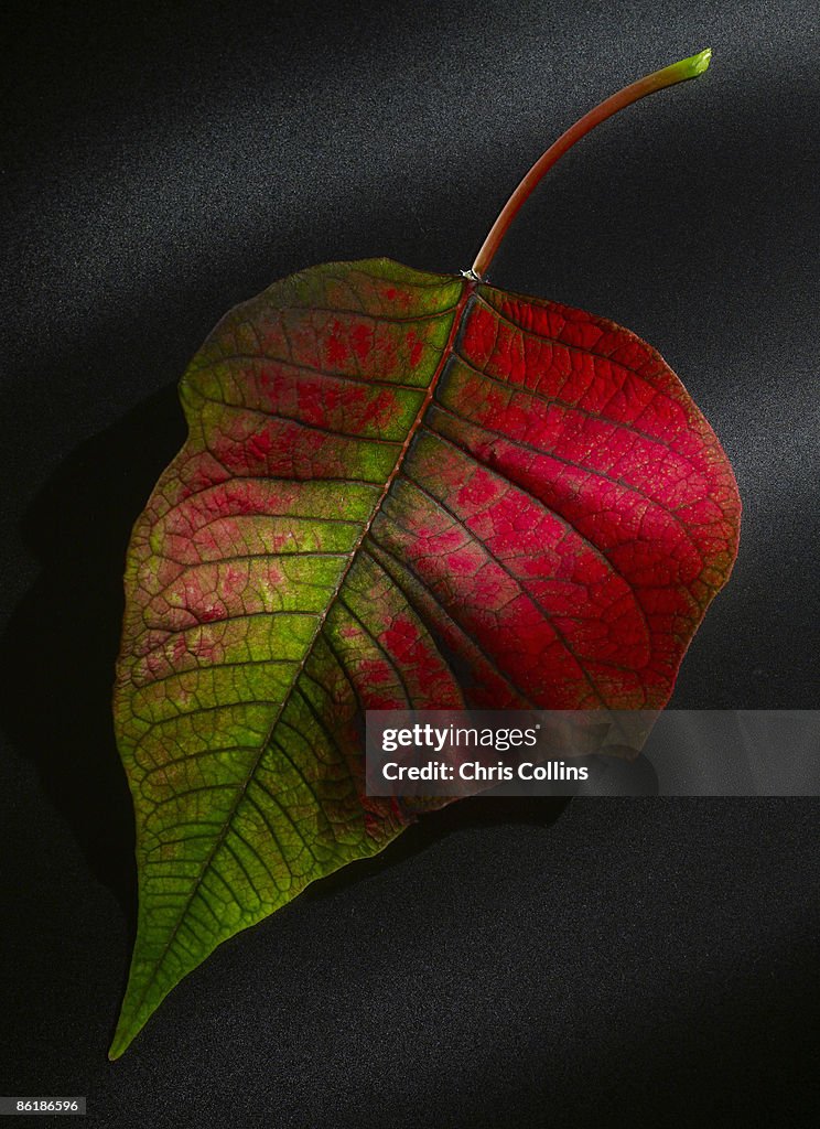
[[815, 1123], [808, 799], [465, 802], [223, 945], [106, 1061], [134, 918], [123, 553], [185, 362], [299, 268], [469, 265], [561, 130], [707, 44], [705, 77], [565, 158], [492, 281], [651, 341], [735, 466], [740, 559], [674, 703], [817, 703], [814, 5], [7, 20], [0, 1091], [117, 1127]]

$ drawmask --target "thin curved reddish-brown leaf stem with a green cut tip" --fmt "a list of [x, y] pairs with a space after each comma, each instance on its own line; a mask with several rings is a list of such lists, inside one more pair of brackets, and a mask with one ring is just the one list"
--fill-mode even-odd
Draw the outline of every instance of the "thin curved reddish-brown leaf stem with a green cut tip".
[[708, 68], [711, 59], [712, 47], [706, 47], [705, 51], [699, 51], [689, 59], [681, 59], [680, 62], [672, 63], [671, 67], [664, 67], [663, 70], [654, 71], [654, 73], [638, 79], [637, 82], [633, 82], [631, 86], [625, 86], [623, 90], [618, 90], [617, 94], [606, 98], [599, 106], [590, 110], [574, 125], [571, 125], [565, 133], [562, 133], [558, 140], [538, 158], [502, 208], [499, 218], [491, 228], [490, 235], [484, 240], [482, 250], [476, 255], [476, 261], [473, 263], [471, 270], [466, 272], [467, 277], [476, 281], [484, 279], [487, 268], [495, 257], [501, 240], [506, 235], [513, 219], [518, 216], [544, 175], [564, 156], [567, 149], [571, 149], [576, 141], [585, 137], [596, 125], [600, 125], [607, 117], [617, 114], [625, 106], [631, 106], [638, 98], [643, 98], [647, 94], [653, 94], [655, 90], [662, 90], [665, 86], [674, 86], [676, 82], [684, 82], [689, 78], [697, 78], [698, 75], [703, 75]]

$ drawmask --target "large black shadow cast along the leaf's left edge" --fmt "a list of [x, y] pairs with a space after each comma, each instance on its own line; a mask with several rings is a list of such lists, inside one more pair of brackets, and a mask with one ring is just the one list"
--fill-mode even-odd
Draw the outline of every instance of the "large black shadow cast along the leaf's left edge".
[[123, 562], [184, 429], [170, 386], [65, 460], [20, 523], [42, 571], [0, 639], [3, 728], [132, 925], [134, 825], [111, 711]]

